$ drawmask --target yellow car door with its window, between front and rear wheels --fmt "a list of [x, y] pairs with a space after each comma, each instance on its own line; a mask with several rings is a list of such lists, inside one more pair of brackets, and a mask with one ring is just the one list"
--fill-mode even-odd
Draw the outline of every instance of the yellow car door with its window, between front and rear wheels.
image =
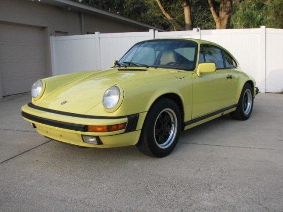
[[230, 71], [225, 69], [222, 49], [201, 45], [199, 63], [215, 63], [216, 72], [193, 75], [192, 119], [229, 107], [232, 104]]

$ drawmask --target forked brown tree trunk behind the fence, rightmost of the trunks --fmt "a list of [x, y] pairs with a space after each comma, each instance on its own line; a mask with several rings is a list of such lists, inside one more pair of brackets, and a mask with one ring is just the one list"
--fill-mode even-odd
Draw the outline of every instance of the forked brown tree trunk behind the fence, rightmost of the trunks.
[[[208, 0], [209, 9], [216, 24], [216, 29], [229, 28], [232, 16], [232, 0], [221, 0], [220, 3]], [[217, 9], [216, 5], [219, 5]]]

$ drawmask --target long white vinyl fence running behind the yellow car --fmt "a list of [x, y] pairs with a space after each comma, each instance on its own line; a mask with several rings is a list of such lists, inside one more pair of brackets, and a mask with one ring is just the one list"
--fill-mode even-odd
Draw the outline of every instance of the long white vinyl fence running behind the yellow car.
[[192, 31], [100, 33], [51, 36], [52, 73], [60, 75], [107, 69], [136, 42], [186, 37], [222, 45], [255, 78], [261, 92], [283, 91], [283, 29], [225, 29]]

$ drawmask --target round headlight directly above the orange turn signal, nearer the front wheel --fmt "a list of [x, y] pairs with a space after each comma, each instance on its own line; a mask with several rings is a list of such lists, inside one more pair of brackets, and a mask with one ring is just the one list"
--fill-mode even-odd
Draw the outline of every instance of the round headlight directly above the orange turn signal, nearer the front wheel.
[[103, 106], [105, 109], [113, 109], [120, 99], [120, 89], [117, 86], [108, 88], [103, 96]]

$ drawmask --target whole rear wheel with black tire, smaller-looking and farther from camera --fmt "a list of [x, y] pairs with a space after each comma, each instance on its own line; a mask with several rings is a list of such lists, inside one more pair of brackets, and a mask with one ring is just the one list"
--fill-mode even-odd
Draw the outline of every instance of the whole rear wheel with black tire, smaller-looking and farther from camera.
[[254, 106], [253, 89], [250, 84], [245, 84], [238, 102], [238, 107], [230, 116], [236, 120], [247, 120], [250, 118]]

